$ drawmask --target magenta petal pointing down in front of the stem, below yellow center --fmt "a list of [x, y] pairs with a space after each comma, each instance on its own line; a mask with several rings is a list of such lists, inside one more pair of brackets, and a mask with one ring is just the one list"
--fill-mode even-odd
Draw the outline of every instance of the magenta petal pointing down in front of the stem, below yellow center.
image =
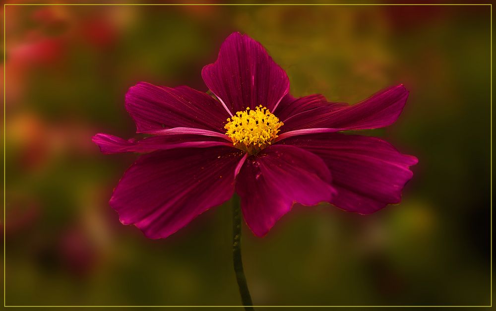
[[236, 192], [248, 227], [259, 237], [286, 214], [294, 202], [314, 205], [334, 193], [325, 163], [301, 148], [270, 146], [246, 160]]

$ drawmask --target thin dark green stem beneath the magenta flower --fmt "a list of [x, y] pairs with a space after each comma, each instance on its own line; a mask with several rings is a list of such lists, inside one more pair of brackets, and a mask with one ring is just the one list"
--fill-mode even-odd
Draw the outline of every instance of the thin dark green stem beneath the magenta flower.
[[241, 301], [245, 310], [253, 310], [253, 303], [248, 291], [247, 278], [243, 271], [243, 260], [241, 259], [241, 208], [240, 198], [234, 194], [232, 198], [233, 205], [233, 262], [236, 280], [240, 289]]

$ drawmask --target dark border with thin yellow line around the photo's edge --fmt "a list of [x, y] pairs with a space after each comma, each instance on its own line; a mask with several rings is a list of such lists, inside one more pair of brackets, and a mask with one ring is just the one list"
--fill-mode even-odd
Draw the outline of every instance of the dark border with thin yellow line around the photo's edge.
[[7, 306], [5, 304], [5, 9], [7, 6], [80, 6], [80, 5], [92, 5], [92, 6], [143, 6], [143, 5], [160, 5], [160, 6], [178, 6], [178, 5], [196, 5], [196, 6], [242, 6], [242, 5], [253, 5], [253, 6], [295, 6], [295, 5], [305, 5], [305, 6], [359, 6], [359, 5], [375, 5], [375, 6], [406, 6], [406, 5], [420, 5], [420, 6], [475, 6], [475, 5], [486, 5], [490, 7], [491, 16], [491, 182], [490, 182], [490, 198], [491, 198], [491, 210], [490, 210], [490, 221], [491, 221], [491, 300], [489, 306], [253, 306], [255, 308], [492, 308], [493, 307], [493, 4], [492, 3], [4, 3], [3, 4], [3, 307], [4, 308], [242, 308], [244, 306]]

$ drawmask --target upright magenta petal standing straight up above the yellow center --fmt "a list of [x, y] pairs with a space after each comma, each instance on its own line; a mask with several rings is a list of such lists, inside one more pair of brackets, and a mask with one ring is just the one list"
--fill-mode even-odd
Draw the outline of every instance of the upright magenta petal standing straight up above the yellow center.
[[261, 44], [238, 32], [224, 41], [217, 61], [203, 67], [201, 76], [231, 115], [258, 105], [273, 111], [289, 91], [286, 72]]

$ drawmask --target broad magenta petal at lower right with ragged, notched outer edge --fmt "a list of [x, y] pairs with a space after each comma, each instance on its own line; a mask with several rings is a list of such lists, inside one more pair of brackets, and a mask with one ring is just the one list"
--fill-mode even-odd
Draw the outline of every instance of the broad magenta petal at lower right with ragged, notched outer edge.
[[401, 190], [413, 177], [409, 166], [418, 162], [388, 142], [370, 136], [325, 133], [292, 137], [283, 143], [304, 148], [322, 158], [337, 190], [331, 203], [361, 214], [399, 203]]

